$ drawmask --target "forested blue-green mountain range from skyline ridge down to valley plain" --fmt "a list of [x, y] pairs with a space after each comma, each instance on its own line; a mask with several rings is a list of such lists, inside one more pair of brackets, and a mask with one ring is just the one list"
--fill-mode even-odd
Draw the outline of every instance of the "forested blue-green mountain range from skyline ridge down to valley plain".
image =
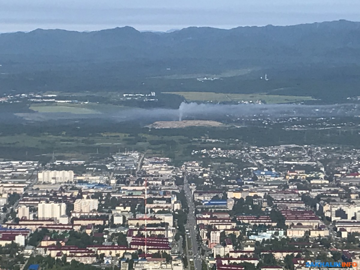
[[[37, 29], [1, 34], [0, 65], [0, 94], [202, 91], [340, 102], [360, 95], [360, 23], [189, 27], [168, 33], [132, 27]], [[239, 70], [247, 72], [197, 81], [197, 76]], [[265, 73], [266, 82], [260, 80]]]

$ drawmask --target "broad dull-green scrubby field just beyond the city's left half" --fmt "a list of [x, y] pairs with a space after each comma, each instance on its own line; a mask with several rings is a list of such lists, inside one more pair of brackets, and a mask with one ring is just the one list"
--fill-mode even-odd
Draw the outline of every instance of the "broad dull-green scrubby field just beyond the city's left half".
[[[66, 128], [64, 128], [66, 129]], [[90, 131], [90, 130], [89, 130]], [[90, 131], [91, 132], [91, 131]], [[184, 143], [189, 143], [186, 136], [159, 136], [146, 133], [128, 134], [121, 132], [96, 132], [87, 135], [74, 136], [72, 132], [54, 132], [36, 134], [14, 134], [0, 136], [0, 152], [4, 157], [17, 159], [25, 154], [32, 158], [40, 156], [55, 156], [62, 158], [87, 159], [95, 153], [107, 154], [127, 150], [147, 151], [152, 155], [183, 156], [189, 149], [184, 149]], [[12, 150], [10, 150], [12, 149]], [[188, 153], [189, 154], [189, 153]]]

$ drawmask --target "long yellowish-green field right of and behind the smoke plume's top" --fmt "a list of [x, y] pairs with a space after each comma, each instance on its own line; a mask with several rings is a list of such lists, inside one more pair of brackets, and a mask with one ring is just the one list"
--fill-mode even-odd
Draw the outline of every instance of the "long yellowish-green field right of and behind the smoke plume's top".
[[214, 92], [164, 92], [183, 96], [187, 101], [206, 102], [246, 102], [261, 100], [267, 104], [292, 103], [306, 100], [314, 100], [311, 96], [284, 96], [267, 94], [227, 94]]

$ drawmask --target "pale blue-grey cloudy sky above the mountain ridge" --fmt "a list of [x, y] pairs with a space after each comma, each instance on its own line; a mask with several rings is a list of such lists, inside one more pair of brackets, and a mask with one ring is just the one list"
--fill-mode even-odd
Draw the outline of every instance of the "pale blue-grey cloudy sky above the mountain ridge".
[[0, 33], [42, 29], [93, 31], [132, 26], [292, 25], [360, 20], [359, 0], [0, 0]]

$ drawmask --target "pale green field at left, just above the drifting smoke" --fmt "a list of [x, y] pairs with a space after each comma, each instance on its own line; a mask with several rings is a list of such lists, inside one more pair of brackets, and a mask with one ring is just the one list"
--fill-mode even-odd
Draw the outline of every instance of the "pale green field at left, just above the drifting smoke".
[[42, 113], [73, 113], [73, 114], [95, 114], [99, 113], [93, 109], [87, 108], [82, 104], [34, 104], [30, 106], [30, 109], [36, 112]]

